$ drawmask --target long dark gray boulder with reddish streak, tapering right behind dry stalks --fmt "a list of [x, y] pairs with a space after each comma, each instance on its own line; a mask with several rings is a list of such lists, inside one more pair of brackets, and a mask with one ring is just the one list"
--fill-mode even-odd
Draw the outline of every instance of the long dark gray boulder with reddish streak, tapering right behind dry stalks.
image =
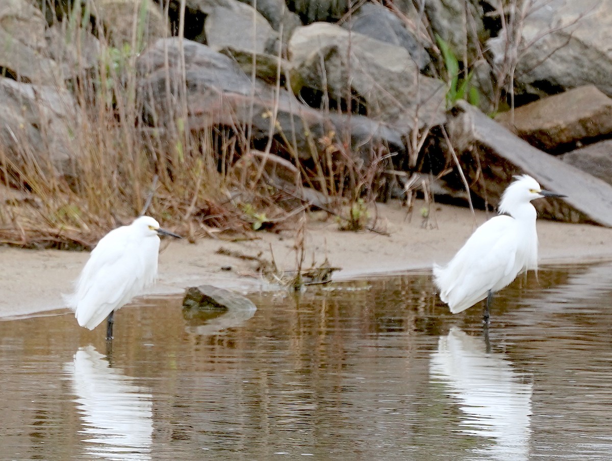
[[[252, 135], [252, 141], [274, 138], [275, 149], [293, 152], [302, 159], [323, 155], [328, 145], [342, 145], [345, 134], [352, 151], [364, 160], [380, 148], [402, 150], [399, 132], [384, 123], [353, 115], [329, 114], [300, 103], [282, 88], [255, 80], [253, 82], [228, 56], [190, 40], [158, 40], [136, 62], [138, 90], [143, 98], [143, 118], [155, 127], [171, 130], [176, 126], [177, 108], [182, 88], [188, 120], [193, 133], [215, 127], [239, 127]], [[185, 77], [182, 80], [181, 54], [184, 53]], [[166, 64], [168, 66], [166, 67]], [[170, 81], [168, 81], [170, 79]], [[170, 94], [168, 94], [170, 90]], [[274, 121], [271, 116], [277, 113]]]

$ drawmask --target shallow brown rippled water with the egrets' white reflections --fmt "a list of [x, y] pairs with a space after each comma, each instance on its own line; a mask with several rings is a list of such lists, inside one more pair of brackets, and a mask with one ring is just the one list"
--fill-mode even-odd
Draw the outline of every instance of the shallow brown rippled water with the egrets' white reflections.
[[612, 264], [452, 316], [428, 274], [0, 322], [2, 460], [612, 459]]

